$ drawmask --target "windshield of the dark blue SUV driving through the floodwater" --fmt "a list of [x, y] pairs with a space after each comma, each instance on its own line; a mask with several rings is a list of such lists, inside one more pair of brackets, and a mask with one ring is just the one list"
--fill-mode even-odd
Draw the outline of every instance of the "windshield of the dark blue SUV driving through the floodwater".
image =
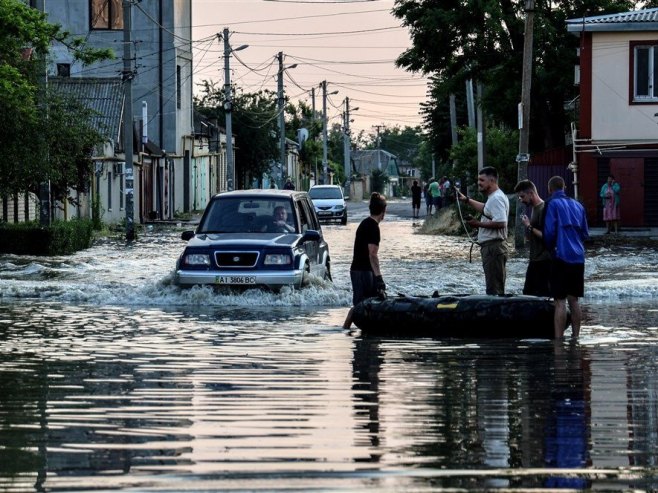
[[[283, 209], [283, 213], [281, 212]], [[276, 217], [275, 217], [276, 214]], [[283, 219], [282, 219], [283, 218]], [[287, 231], [297, 232], [297, 219], [289, 200], [227, 197], [214, 200], [206, 210], [198, 233], [265, 233], [272, 224], [285, 221]]]

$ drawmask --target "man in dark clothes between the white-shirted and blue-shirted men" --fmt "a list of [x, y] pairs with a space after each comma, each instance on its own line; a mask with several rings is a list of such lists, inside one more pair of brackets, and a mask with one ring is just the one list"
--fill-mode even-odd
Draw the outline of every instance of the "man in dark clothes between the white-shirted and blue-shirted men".
[[532, 296], [550, 296], [548, 279], [551, 268], [551, 252], [544, 245], [543, 213], [545, 202], [539, 196], [537, 187], [530, 180], [521, 180], [514, 187], [519, 201], [526, 207], [532, 207], [530, 217], [523, 214], [521, 221], [525, 226], [526, 238], [530, 245], [528, 269], [525, 273], [523, 294]]

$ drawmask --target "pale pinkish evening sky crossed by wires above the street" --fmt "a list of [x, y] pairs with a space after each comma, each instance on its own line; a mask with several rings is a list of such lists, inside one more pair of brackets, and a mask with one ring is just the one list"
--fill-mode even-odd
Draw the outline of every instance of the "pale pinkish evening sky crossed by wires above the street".
[[[231, 82], [245, 92], [277, 90], [277, 54], [284, 55], [284, 91], [292, 102], [322, 111], [327, 82], [328, 126], [343, 122], [349, 99], [352, 132], [375, 134], [377, 126], [417, 126], [427, 79], [395, 67], [411, 46], [406, 28], [391, 14], [393, 0], [194, 0], [194, 81], [224, 83], [224, 45], [229, 29], [236, 51]], [[330, 94], [338, 91], [337, 94]], [[195, 93], [198, 90], [195, 89]]]

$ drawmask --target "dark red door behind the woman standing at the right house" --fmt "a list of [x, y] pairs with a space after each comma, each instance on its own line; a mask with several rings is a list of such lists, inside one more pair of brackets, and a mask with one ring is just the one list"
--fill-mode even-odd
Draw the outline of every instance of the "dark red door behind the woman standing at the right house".
[[621, 185], [619, 225], [644, 226], [644, 158], [612, 158], [610, 173]]

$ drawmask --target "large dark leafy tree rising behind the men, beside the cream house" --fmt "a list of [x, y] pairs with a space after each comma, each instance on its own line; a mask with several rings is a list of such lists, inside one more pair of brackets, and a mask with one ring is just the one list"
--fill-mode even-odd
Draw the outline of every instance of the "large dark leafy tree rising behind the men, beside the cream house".
[[[566, 20], [623, 12], [632, 0], [535, 0], [531, 90], [531, 151], [564, 144], [564, 102], [577, 96], [573, 66], [578, 37]], [[425, 126], [437, 150], [449, 136], [448, 98], [462, 95], [467, 80], [484, 85], [482, 107], [495, 124], [515, 128], [521, 98], [525, 0], [396, 0], [393, 14], [409, 29], [412, 47], [397, 65], [430, 76]], [[463, 97], [459, 98], [460, 102]], [[463, 106], [458, 110], [463, 125]], [[440, 142], [441, 141], [441, 142]]]

